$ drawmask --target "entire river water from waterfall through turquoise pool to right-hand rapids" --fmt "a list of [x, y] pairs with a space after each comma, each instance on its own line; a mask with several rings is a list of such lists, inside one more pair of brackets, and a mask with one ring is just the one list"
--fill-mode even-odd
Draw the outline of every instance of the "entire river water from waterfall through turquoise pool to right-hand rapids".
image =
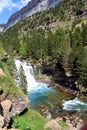
[[[55, 105], [60, 100], [63, 105], [63, 110], [87, 112], [87, 103], [80, 101], [78, 98], [75, 98], [73, 100], [70, 100], [70, 98], [68, 98], [68, 100], [66, 100], [65, 93], [60, 92], [60, 90], [57, 89], [56, 94], [55, 90], [52, 87], [49, 87], [49, 84], [40, 82], [38, 83], [34, 78], [33, 68], [30, 63], [27, 63], [26, 61], [20, 61], [19, 59], [15, 59], [15, 64], [18, 71], [20, 65], [23, 66], [28, 85], [28, 99], [30, 101], [31, 107], [43, 104], [45, 102], [50, 102], [50, 104], [52, 104], [53, 102], [53, 104]], [[50, 98], [47, 96], [47, 94], [50, 94]]]

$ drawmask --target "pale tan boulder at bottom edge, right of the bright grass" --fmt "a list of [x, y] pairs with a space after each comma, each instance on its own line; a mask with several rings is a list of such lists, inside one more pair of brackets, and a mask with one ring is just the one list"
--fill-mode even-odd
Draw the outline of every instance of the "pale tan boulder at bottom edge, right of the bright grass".
[[46, 129], [50, 129], [50, 130], [61, 130], [61, 126], [55, 121], [55, 120], [51, 120], [49, 122], [47, 122], [44, 126], [44, 130]]

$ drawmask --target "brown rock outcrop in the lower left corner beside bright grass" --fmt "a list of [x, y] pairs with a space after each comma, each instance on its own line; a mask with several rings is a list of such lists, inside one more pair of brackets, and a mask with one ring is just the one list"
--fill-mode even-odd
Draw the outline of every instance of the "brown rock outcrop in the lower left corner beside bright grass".
[[[28, 108], [28, 101], [21, 96], [10, 96], [0, 103], [0, 130], [7, 130], [13, 116]], [[15, 129], [14, 129], [15, 130]]]

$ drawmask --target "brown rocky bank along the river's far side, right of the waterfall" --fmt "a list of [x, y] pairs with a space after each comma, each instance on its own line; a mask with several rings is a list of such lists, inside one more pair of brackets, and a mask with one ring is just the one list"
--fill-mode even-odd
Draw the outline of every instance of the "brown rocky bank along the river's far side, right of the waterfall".
[[63, 84], [62, 81], [60, 83], [56, 82], [51, 76], [42, 74], [37, 77], [37, 81], [48, 83], [49, 87], [52, 86], [53, 88], [57, 88], [64, 93], [70, 94], [73, 98], [78, 97], [83, 101], [87, 100], [87, 96], [82, 91], [75, 88], [75, 86], [74, 89], [73, 87], [70, 88], [69, 86], [66, 86], [65, 83]]

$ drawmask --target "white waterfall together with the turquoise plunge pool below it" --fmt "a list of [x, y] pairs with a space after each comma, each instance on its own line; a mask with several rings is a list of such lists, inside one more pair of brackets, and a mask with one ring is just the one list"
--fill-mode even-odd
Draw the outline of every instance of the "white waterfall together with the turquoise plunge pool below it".
[[33, 68], [30, 63], [15, 59], [15, 64], [17, 70], [19, 70], [21, 65], [24, 69], [27, 84], [28, 84], [28, 88], [27, 88], [28, 98], [31, 102], [31, 106], [34, 106], [38, 103], [45, 102], [47, 100], [47, 97], [44, 96], [44, 94], [52, 92], [53, 89], [51, 87], [48, 87], [48, 84], [46, 83], [36, 82], [34, 78]]

